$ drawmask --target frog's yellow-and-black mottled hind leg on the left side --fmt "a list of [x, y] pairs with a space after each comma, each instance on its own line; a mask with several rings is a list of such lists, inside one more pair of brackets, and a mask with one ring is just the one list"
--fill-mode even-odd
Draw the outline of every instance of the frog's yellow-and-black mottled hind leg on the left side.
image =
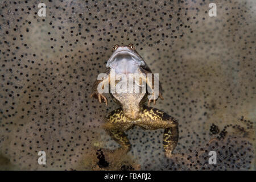
[[131, 144], [125, 131], [131, 129], [133, 126], [134, 123], [125, 117], [121, 108], [118, 108], [107, 115], [106, 123], [103, 127], [110, 137], [121, 145], [119, 149], [129, 152], [131, 150]]

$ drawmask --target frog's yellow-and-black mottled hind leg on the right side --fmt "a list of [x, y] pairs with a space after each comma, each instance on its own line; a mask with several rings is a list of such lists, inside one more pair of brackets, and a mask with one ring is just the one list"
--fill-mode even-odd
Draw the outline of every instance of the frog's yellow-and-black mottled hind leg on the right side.
[[137, 125], [147, 130], [164, 129], [163, 148], [168, 158], [174, 154], [177, 141], [179, 139], [179, 129], [177, 120], [162, 110], [144, 106], [141, 118]]

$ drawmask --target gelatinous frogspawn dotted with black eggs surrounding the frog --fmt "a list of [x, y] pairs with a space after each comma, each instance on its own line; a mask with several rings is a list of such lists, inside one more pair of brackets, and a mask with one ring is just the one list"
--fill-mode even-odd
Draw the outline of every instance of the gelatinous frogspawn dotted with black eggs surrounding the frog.
[[[0, 1], [0, 169], [255, 169], [254, 0], [39, 3]], [[109, 152], [101, 126], [118, 105], [90, 92], [130, 43], [159, 73], [154, 107], [179, 121], [175, 158], [162, 129], [129, 130], [132, 150]]]

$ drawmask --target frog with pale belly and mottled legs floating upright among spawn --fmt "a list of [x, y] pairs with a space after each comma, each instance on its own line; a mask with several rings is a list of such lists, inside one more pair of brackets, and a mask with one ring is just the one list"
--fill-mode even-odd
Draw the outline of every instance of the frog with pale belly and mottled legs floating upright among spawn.
[[[104, 93], [98, 92], [98, 87], [101, 84], [101, 87], [104, 88], [102, 85], [106, 84], [110, 88], [110, 73], [122, 73], [125, 75], [140, 73], [146, 75], [146, 77], [148, 73], [152, 74], [151, 69], [142, 56], [139, 55], [133, 44], [128, 46], [115, 44], [112, 51], [112, 55], [106, 62], [106, 76], [102, 77], [101, 80], [94, 81], [92, 94], [90, 95], [90, 97], [96, 98], [100, 103], [105, 103], [106, 106], [108, 105], [108, 99], [104, 96]], [[119, 149], [126, 152], [131, 150], [131, 143], [125, 133], [127, 130], [133, 129], [135, 126], [141, 127], [143, 130], [164, 129], [163, 151], [167, 158], [171, 158], [174, 156], [173, 151], [179, 139], [177, 119], [162, 110], [150, 106], [151, 103], [155, 105], [158, 98], [164, 99], [163, 88], [158, 78], [153, 76], [151, 82], [148, 79], [142, 78], [139, 80], [139, 83], [142, 80], [146, 82], [149, 88], [146, 89], [146, 93], [110, 93], [113, 101], [120, 107], [106, 115], [102, 127], [120, 145]], [[154, 84], [152, 83], [155, 81], [159, 83], [158, 97], [148, 97], [149, 95], [154, 96], [154, 92], [152, 92]], [[116, 85], [117, 82], [114, 82], [114, 84]]]

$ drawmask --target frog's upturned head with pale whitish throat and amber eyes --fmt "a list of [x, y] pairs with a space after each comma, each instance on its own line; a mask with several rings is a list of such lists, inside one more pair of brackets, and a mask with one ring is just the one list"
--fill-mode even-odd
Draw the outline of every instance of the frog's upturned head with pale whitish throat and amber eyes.
[[134, 73], [138, 67], [145, 64], [133, 44], [128, 46], [115, 45], [106, 67], [115, 69], [117, 73]]

